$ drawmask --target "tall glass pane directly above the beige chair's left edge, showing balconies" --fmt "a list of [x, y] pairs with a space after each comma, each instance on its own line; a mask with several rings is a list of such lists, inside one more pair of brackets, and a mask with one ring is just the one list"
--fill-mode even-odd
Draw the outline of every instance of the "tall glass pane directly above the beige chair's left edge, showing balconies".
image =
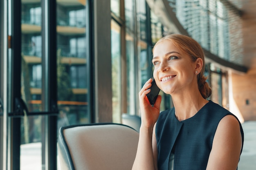
[[57, 0], [58, 128], [90, 122], [85, 1]]

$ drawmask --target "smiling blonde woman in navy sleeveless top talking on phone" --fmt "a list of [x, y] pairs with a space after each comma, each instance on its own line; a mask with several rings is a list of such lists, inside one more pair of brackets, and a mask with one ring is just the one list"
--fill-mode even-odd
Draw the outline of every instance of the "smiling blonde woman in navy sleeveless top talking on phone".
[[243, 148], [243, 129], [228, 110], [208, 101], [201, 46], [185, 35], [172, 34], [153, 48], [153, 77], [173, 99], [174, 108], [159, 114], [139, 92], [141, 128], [132, 170], [236, 170]]

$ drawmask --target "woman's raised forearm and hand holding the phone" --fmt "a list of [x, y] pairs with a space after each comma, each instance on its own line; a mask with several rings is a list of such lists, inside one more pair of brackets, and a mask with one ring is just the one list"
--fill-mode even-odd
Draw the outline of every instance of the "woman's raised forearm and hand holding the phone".
[[139, 105], [141, 110], [141, 127], [139, 130], [139, 143], [132, 170], [157, 170], [157, 145], [155, 138], [155, 124], [159, 117], [161, 96], [157, 97], [154, 107], [150, 105], [146, 94], [151, 86], [149, 79], [139, 92]]

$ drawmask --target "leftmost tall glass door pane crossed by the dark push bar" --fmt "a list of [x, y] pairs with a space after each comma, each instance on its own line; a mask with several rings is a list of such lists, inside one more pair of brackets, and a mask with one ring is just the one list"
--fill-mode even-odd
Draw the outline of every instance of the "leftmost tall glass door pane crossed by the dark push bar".
[[[29, 112], [42, 111], [41, 3], [22, 1], [21, 6], [21, 95]], [[45, 145], [44, 116], [21, 119], [20, 170], [42, 170]]]

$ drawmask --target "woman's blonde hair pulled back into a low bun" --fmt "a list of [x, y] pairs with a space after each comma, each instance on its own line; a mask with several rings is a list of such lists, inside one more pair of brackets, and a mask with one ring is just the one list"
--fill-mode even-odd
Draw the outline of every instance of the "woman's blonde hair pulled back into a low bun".
[[[198, 89], [204, 97], [204, 99], [207, 99], [211, 96], [211, 87], [206, 82], [207, 77], [204, 76], [204, 51], [200, 44], [196, 42], [194, 39], [181, 34], [170, 34], [166, 35], [160, 40], [157, 41], [155, 46], [164, 40], [171, 41], [180, 51], [188, 54], [191, 57], [191, 61], [195, 62], [198, 58], [201, 58], [203, 61], [203, 66], [201, 72], [197, 75], [198, 79]], [[155, 49], [155, 46], [153, 48], [153, 52]]]

